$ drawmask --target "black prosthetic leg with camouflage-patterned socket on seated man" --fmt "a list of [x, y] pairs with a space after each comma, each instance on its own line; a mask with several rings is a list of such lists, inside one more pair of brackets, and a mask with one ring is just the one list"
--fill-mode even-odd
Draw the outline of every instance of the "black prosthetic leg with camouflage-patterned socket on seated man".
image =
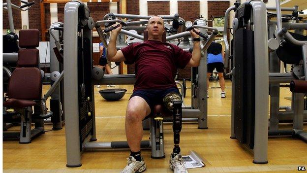
[[182, 98], [178, 93], [169, 93], [163, 99], [163, 105], [173, 114], [174, 149], [173, 153], [180, 153], [180, 132], [182, 129]]

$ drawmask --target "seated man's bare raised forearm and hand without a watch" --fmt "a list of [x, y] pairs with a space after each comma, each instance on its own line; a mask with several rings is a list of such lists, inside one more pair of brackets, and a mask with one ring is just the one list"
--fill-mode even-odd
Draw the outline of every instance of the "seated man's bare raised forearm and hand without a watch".
[[111, 61], [111, 62], [126, 61], [126, 59], [123, 56], [123, 52], [121, 50], [117, 50], [116, 48], [117, 35], [120, 33], [121, 29], [122, 29], [122, 25], [120, 25], [120, 27], [118, 27], [117, 29], [111, 31], [111, 38], [109, 41], [108, 51], [107, 51], [108, 61]]

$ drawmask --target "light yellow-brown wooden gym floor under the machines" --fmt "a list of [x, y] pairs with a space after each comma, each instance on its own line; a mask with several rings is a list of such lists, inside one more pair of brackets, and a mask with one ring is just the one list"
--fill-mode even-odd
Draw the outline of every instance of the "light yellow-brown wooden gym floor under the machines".
[[[296, 172], [298, 166], [307, 168], [307, 143], [296, 138], [269, 138], [268, 160], [265, 165], [252, 163], [253, 155], [236, 139], [230, 137], [231, 82], [226, 82], [226, 98], [220, 98], [218, 83], [210, 83], [208, 99], [208, 129], [198, 130], [197, 124], [184, 123], [180, 146], [183, 155], [189, 150], [196, 151], [206, 162], [206, 167], [190, 169], [189, 173], [227, 173], [227, 172]], [[190, 82], [188, 82], [188, 87]], [[44, 92], [48, 90], [44, 86]], [[131, 85], [116, 85], [126, 88], [124, 98], [118, 102], [104, 101], [95, 88], [96, 133], [98, 141], [125, 140], [124, 114], [132, 93]], [[288, 88], [280, 89], [280, 105], [290, 105], [284, 99], [291, 97]], [[190, 89], [185, 98], [191, 103]], [[13, 127], [11, 130], [18, 129]], [[45, 130], [51, 130], [46, 125]], [[304, 126], [307, 130], [307, 125]], [[171, 124], [165, 124], [165, 159], [152, 159], [150, 150], [143, 150], [142, 156], [147, 164], [145, 173], [172, 173], [168, 159], [173, 148]], [[149, 132], [144, 132], [144, 139]], [[65, 128], [49, 131], [32, 140], [30, 144], [18, 141], [3, 141], [4, 173], [119, 173], [125, 166], [129, 151], [85, 152], [82, 154], [82, 167], [66, 167]]]

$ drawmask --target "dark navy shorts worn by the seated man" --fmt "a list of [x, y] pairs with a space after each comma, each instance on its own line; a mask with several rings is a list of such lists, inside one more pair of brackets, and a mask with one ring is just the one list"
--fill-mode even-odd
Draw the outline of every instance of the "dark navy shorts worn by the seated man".
[[172, 87], [162, 90], [136, 90], [133, 92], [130, 99], [134, 96], [143, 98], [151, 108], [151, 114], [153, 114], [154, 105], [163, 104], [163, 98], [172, 92], [176, 92], [181, 96], [178, 88]]

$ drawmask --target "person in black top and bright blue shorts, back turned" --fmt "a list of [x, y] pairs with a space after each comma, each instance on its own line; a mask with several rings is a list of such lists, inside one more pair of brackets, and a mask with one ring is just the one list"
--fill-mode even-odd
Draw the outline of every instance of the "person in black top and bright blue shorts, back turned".
[[[219, 78], [219, 85], [221, 87], [221, 98], [226, 97], [225, 93], [225, 80], [224, 80], [224, 51], [222, 45], [216, 42], [212, 42], [207, 49], [207, 88], [209, 89], [209, 78], [214, 69], [216, 69]], [[209, 93], [207, 95], [209, 98]]]

